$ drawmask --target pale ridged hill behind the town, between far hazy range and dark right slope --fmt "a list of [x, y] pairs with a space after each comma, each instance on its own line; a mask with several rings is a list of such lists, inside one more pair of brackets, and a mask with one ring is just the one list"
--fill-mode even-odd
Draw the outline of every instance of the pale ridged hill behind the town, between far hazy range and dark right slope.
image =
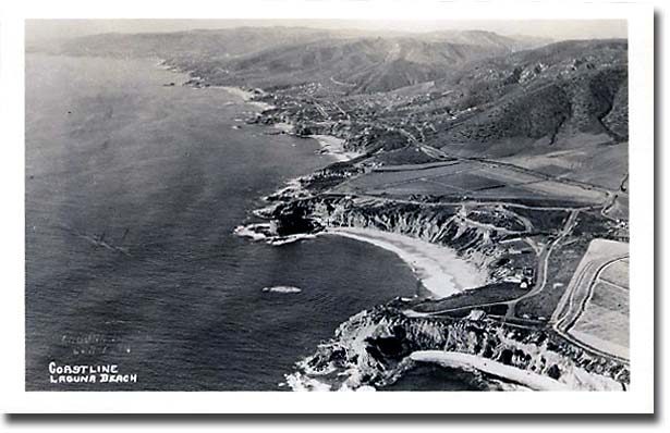
[[442, 78], [470, 61], [503, 52], [510, 49], [409, 37], [324, 39], [232, 59], [211, 78], [257, 87], [344, 83], [348, 94], [368, 94]]

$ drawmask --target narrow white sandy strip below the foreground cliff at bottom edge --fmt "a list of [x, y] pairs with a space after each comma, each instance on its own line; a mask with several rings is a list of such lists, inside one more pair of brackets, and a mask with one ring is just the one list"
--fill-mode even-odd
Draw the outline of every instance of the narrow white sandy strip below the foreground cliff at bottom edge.
[[454, 369], [476, 369], [497, 378], [519, 383], [534, 391], [568, 391], [565, 384], [551, 378], [474, 355], [456, 351], [419, 350], [413, 352], [410, 357], [415, 361], [434, 362]]

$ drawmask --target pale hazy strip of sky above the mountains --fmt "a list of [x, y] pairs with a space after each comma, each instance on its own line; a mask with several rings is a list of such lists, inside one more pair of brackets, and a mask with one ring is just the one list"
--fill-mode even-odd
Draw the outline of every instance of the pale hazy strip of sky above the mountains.
[[28, 42], [96, 33], [178, 32], [194, 28], [239, 26], [305, 26], [370, 30], [433, 32], [480, 29], [502, 35], [527, 35], [551, 39], [625, 38], [621, 20], [533, 20], [533, 21], [360, 21], [360, 20], [37, 20], [26, 22]]

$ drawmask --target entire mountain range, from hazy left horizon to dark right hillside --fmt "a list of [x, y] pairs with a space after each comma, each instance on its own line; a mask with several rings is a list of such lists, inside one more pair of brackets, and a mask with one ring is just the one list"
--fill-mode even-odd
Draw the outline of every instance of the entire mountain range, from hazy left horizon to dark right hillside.
[[628, 140], [626, 40], [241, 27], [32, 49], [160, 58], [202, 85], [263, 88], [285, 102], [276, 121], [345, 124], [358, 147], [394, 149], [419, 137], [465, 156], [512, 157]]

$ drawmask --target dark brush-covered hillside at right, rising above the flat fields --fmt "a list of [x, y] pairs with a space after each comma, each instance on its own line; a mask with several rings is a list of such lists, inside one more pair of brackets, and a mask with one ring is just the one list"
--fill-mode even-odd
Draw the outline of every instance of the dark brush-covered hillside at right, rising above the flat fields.
[[577, 134], [628, 140], [625, 40], [563, 41], [486, 59], [427, 90], [444, 94], [431, 109], [473, 108], [437, 124], [434, 136], [442, 143], [487, 146], [522, 137], [553, 145]]

